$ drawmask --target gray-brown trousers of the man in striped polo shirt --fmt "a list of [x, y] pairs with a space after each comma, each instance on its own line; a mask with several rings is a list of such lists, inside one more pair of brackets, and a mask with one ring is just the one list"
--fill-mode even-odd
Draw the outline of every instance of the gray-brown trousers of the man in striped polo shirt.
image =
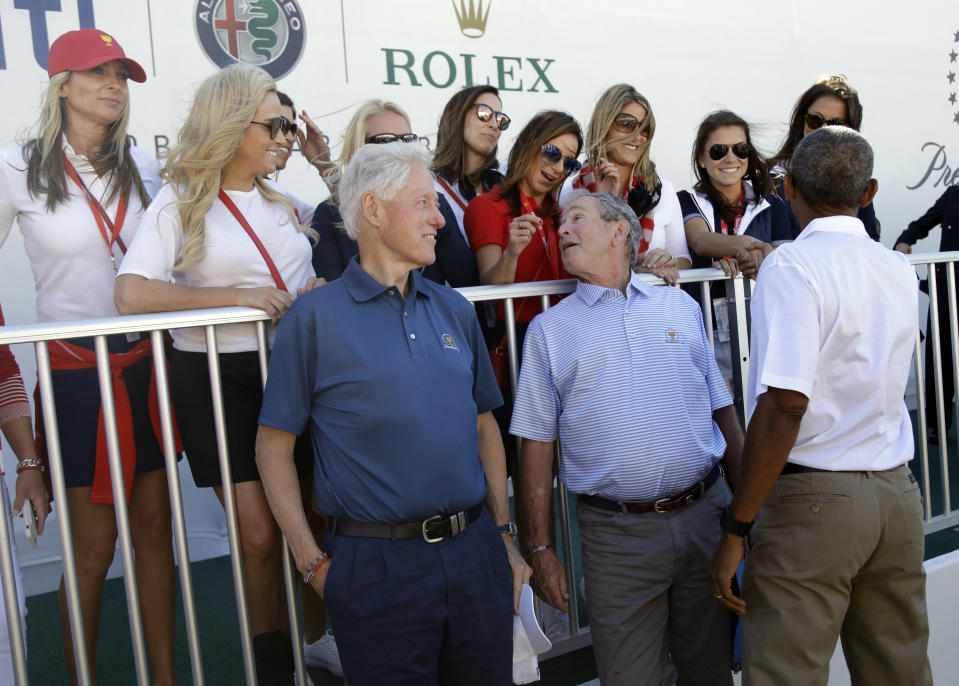
[[590, 634], [603, 686], [732, 686], [730, 613], [707, 567], [732, 496], [719, 479], [667, 514], [579, 505]]

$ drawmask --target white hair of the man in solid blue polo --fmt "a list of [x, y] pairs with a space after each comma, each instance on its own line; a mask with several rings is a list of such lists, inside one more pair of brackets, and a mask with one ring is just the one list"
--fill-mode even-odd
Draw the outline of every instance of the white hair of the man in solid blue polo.
[[414, 165], [430, 168], [432, 155], [423, 143], [364, 145], [343, 168], [337, 193], [346, 235], [356, 240], [363, 217], [363, 196], [392, 200], [403, 190]]

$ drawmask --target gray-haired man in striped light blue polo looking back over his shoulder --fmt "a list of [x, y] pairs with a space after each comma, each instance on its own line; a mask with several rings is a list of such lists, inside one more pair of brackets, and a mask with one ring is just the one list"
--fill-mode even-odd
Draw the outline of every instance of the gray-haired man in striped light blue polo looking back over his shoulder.
[[553, 441], [578, 494], [593, 650], [603, 684], [728, 685], [727, 611], [707, 577], [731, 499], [742, 432], [697, 303], [630, 271], [636, 215], [608, 193], [574, 196], [560, 250], [580, 283], [526, 334], [512, 433], [533, 583], [568, 611], [549, 545]]

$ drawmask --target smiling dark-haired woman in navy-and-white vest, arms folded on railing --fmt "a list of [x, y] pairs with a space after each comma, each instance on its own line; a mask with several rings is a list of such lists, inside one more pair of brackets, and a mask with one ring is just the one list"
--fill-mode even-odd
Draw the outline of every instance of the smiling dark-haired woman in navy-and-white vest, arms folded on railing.
[[[749, 137], [749, 124], [729, 110], [712, 112], [696, 132], [692, 154], [696, 184], [679, 192], [693, 268], [716, 266], [728, 276], [755, 278], [774, 245], [791, 240], [785, 204], [776, 195], [766, 162]], [[725, 284], [712, 288], [716, 360], [732, 379]]]

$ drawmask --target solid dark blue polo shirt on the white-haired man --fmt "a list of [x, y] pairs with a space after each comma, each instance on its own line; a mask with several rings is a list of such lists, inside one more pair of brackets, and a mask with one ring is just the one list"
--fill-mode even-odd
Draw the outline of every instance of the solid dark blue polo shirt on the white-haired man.
[[476, 311], [411, 274], [404, 300], [354, 259], [277, 331], [260, 424], [309, 425], [324, 514], [398, 524], [486, 495], [476, 419], [503, 400]]

